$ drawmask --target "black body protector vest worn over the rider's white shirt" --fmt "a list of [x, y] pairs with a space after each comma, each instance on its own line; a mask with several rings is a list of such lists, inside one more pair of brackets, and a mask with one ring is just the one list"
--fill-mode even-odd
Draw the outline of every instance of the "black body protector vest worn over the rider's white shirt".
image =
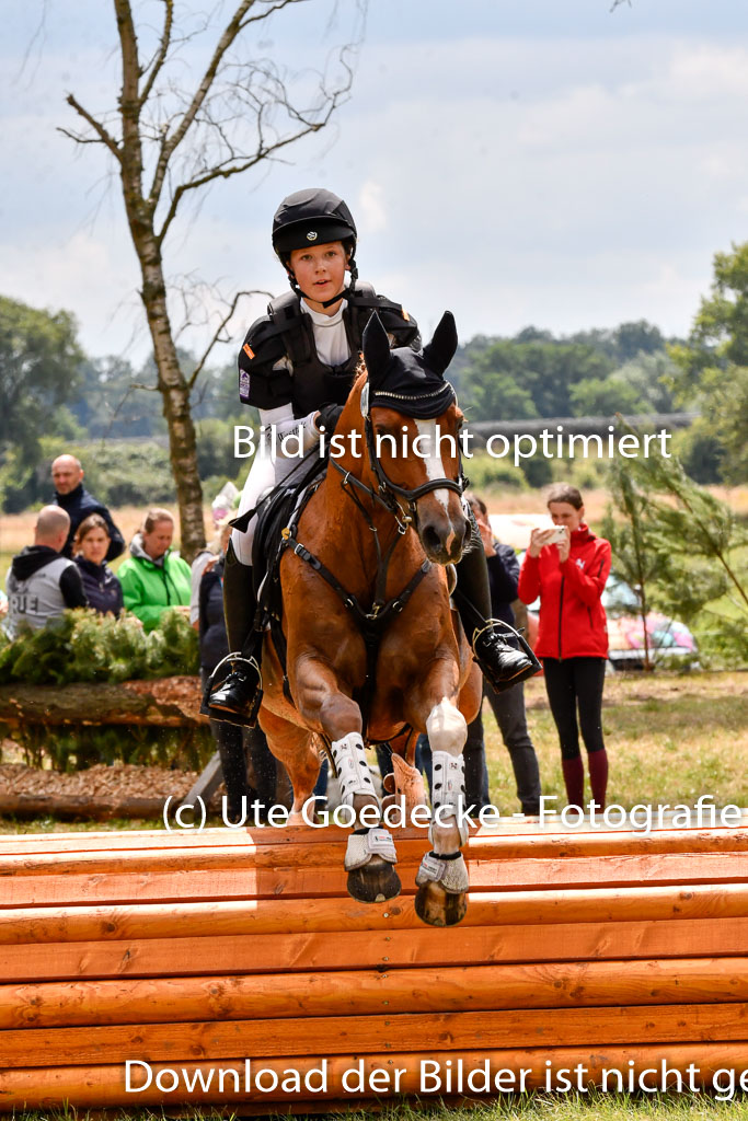
[[[323, 405], [344, 405], [355, 378], [363, 328], [377, 312], [393, 346], [421, 345], [418, 325], [400, 304], [377, 296], [370, 284], [357, 281], [343, 306], [350, 358], [341, 365], [325, 365], [314, 342], [312, 316], [299, 297], [288, 291], [268, 304], [239, 351], [239, 397], [258, 409], [292, 405], [295, 417], [305, 417]], [[287, 359], [287, 363], [283, 360]], [[276, 369], [281, 363], [279, 369]]]

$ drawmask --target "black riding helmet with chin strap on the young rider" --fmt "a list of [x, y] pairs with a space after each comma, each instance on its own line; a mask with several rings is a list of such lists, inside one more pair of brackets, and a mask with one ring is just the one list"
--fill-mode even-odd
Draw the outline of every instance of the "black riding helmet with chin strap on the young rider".
[[[290, 270], [289, 260], [293, 250], [321, 245], [329, 241], [342, 241], [349, 254], [351, 280], [355, 284], [358, 278], [354, 260], [355, 222], [343, 200], [324, 187], [295, 191], [293, 195], [284, 198], [273, 216], [273, 248], [288, 272], [288, 280], [294, 291], [304, 295]], [[340, 295], [326, 300], [325, 306], [334, 304], [338, 299]]]

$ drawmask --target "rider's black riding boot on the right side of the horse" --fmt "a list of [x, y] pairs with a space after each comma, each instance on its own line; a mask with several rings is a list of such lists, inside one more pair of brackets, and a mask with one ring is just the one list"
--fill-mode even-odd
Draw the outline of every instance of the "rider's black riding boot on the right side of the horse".
[[458, 564], [454, 601], [475, 661], [489, 684], [500, 693], [510, 685], [532, 677], [541, 666], [532, 651], [527, 654], [511, 646], [506, 638], [508, 630], [505, 624], [491, 619], [491, 586], [486, 552], [472, 513], [470, 522], [471, 541]]

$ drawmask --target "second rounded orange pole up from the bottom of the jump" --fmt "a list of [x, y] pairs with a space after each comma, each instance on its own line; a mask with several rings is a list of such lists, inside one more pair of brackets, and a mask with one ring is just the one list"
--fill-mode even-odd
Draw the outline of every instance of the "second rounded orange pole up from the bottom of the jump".
[[[0, 985], [0, 1028], [748, 1001], [748, 957]], [[550, 1023], [553, 1022], [551, 1018]]]

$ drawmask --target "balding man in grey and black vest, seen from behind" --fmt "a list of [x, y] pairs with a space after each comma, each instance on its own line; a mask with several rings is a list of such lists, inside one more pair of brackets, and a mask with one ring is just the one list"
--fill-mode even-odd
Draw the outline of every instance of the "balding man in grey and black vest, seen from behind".
[[65, 608], [85, 608], [86, 599], [76, 564], [61, 556], [71, 519], [58, 506], [39, 510], [34, 545], [15, 556], [6, 581], [8, 614], [3, 628], [9, 638], [29, 628], [41, 630], [59, 619]]

